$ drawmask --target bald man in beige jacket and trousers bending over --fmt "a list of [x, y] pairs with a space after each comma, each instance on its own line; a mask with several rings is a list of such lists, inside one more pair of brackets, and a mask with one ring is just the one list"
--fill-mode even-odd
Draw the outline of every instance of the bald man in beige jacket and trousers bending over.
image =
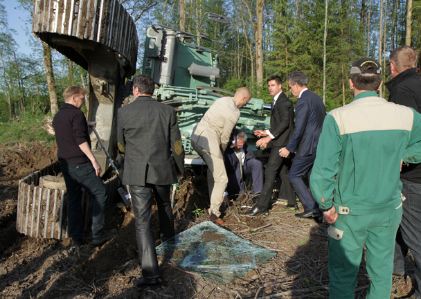
[[246, 87], [235, 91], [234, 97], [224, 97], [216, 100], [199, 124], [192, 132], [192, 147], [208, 165], [208, 182], [215, 182], [211, 193], [210, 220], [224, 225], [219, 219], [222, 197], [228, 183], [224, 165], [224, 152], [229, 142], [231, 132], [240, 118], [240, 109], [249, 102], [251, 93]]

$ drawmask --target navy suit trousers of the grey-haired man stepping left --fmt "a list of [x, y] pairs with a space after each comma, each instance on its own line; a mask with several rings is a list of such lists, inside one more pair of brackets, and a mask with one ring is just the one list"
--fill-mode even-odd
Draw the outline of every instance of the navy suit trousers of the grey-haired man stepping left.
[[292, 161], [291, 170], [289, 170], [288, 178], [291, 181], [292, 187], [303, 203], [304, 210], [312, 210], [317, 208], [316, 199], [313, 194], [308, 190], [307, 185], [303, 181], [303, 176], [308, 172], [308, 177], [312, 174], [314, 160], [316, 154], [304, 157], [295, 157]]

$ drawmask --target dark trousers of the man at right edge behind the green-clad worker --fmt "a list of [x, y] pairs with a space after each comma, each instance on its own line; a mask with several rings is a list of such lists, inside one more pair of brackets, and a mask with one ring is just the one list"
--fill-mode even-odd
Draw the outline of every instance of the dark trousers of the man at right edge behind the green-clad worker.
[[415, 297], [421, 299], [421, 184], [402, 181], [402, 222], [397, 230], [393, 273], [404, 273], [405, 256], [408, 248], [415, 261], [415, 280], [418, 283]]

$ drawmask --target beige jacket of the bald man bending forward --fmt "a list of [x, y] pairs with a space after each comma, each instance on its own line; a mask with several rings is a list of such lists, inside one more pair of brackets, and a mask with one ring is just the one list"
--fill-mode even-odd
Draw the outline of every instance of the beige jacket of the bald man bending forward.
[[219, 98], [193, 129], [191, 140], [211, 154], [222, 158], [239, 118], [240, 110], [234, 98]]

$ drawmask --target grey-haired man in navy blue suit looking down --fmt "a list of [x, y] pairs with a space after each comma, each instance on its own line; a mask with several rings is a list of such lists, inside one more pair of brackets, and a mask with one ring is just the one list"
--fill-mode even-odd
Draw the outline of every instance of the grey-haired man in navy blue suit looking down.
[[304, 212], [296, 213], [296, 217], [321, 217], [316, 200], [303, 181], [303, 176], [312, 173], [316, 158], [317, 144], [326, 116], [323, 100], [307, 89], [307, 76], [301, 71], [294, 71], [288, 76], [289, 91], [298, 98], [295, 109], [294, 134], [286, 147], [279, 150], [280, 156], [286, 158], [297, 150], [289, 170], [289, 181], [303, 203]]

